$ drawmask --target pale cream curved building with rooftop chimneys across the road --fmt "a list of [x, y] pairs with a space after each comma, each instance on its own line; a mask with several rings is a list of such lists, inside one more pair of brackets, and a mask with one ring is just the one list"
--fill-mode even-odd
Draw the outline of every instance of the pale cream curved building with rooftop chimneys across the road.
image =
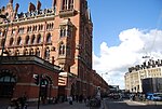
[[[143, 65], [129, 68], [129, 72], [125, 73], [125, 90], [130, 92], [144, 92], [146, 87], [143, 80], [146, 79], [162, 78], [162, 60], [148, 60]], [[158, 85], [158, 84], [154, 84]]]

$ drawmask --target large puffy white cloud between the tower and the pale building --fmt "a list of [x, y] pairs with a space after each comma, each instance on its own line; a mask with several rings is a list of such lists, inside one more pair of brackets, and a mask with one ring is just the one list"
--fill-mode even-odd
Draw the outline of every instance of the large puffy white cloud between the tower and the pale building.
[[119, 35], [121, 43], [117, 46], [100, 44], [99, 56], [93, 53], [93, 69], [99, 74], [108, 72], [104, 79], [109, 84], [124, 88], [124, 74], [129, 67], [143, 64], [143, 56], [149, 55], [154, 59], [162, 58], [162, 30], [140, 30], [132, 28]]

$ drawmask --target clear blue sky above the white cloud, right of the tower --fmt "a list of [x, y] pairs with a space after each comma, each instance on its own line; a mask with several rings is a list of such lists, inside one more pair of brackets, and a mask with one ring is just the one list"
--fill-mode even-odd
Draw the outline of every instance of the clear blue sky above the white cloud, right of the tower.
[[122, 30], [157, 28], [162, 0], [89, 0], [89, 5], [94, 23], [94, 51], [98, 53], [103, 41], [109, 46], [118, 45]]

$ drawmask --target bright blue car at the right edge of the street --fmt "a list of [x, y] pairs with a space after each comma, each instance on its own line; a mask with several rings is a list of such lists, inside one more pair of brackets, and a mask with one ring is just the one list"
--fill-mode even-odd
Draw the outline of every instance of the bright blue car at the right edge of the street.
[[162, 101], [162, 94], [161, 93], [148, 94], [147, 99], [154, 100], [154, 101]]

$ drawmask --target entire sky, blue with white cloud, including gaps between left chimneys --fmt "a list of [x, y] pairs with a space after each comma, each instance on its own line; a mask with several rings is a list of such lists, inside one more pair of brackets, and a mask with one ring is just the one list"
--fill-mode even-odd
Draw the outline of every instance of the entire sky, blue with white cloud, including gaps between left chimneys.
[[[13, 0], [19, 11], [37, 0]], [[52, 0], [40, 0], [42, 9]], [[48, 1], [48, 2], [46, 2]], [[0, 8], [9, 0], [0, 0]], [[27, 3], [25, 3], [27, 2]], [[143, 56], [162, 59], [162, 0], [87, 0], [93, 22], [93, 69], [111, 85], [124, 88], [130, 67]]]

